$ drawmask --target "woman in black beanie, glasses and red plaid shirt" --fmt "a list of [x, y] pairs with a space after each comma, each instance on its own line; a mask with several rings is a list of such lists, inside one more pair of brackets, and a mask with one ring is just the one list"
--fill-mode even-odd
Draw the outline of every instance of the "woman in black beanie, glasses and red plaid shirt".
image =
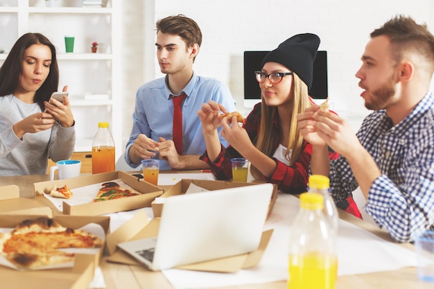
[[[256, 71], [262, 101], [255, 105], [238, 125], [236, 116], [223, 117], [222, 105], [210, 101], [198, 111], [207, 150], [200, 157], [218, 179], [232, 178], [230, 159], [244, 157], [250, 161], [255, 179], [277, 184], [284, 193], [306, 191], [312, 146], [297, 128], [297, 114], [311, 106], [308, 95], [312, 84], [313, 60], [320, 38], [311, 33], [290, 37], [266, 55], [262, 70]], [[225, 148], [218, 139], [217, 128], [228, 141]], [[330, 157], [337, 155], [330, 153]], [[338, 204], [360, 216], [352, 198]]]

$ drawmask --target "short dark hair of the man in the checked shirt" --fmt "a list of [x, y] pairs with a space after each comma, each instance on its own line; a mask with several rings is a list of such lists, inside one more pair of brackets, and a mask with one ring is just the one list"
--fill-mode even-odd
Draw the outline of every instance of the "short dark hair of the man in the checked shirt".
[[392, 58], [399, 63], [406, 51], [417, 51], [434, 67], [434, 36], [426, 24], [417, 24], [411, 17], [397, 15], [372, 31], [371, 38], [385, 35], [390, 39]]

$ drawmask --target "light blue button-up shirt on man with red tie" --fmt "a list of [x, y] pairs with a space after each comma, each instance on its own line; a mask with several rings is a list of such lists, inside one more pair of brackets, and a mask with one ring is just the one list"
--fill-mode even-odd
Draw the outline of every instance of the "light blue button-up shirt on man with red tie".
[[[166, 78], [167, 76], [150, 81], [137, 91], [136, 107], [132, 114], [132, 130], [125, 152], [125, 161], [133, 168], [139, 164], [131, 162], [128, 150], [139, 134], [146, 134], [155, 141], [159, 141], [159, 137], [173, 139], [173, 100], [170, 98], [172, 93], [168, 89]], [[222, 82], [214, 78], [197, 76], [196, 73], [193, 73], [193, 77], [182, 92], [186, 94], [181, 107], [184, 155], [202, 155], [206, 146], [198, 110], [201, 109], [202, 103], [214, 100], [226, 107], [228, 112], [234, 112], [234, 99], [229, 88]], [[220, 130], [221, 128], [218, 130], [219, 135]], [[220, 142], [224, 146], [228, 145], [221, 136]], [[171, 169], [171, 166], [167, 161], [162, 161], [160, 169]]]

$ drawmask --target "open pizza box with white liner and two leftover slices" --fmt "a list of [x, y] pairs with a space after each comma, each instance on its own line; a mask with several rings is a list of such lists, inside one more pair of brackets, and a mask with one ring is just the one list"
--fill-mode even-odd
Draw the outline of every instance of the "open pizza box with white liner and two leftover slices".
[[[128, 198], [120, 198], [116, 200], [105, 200], [101, 202], [92, 202], [92, 199], [101, 188], [101, 184], [105, 182], [119, 182], [125, 189], [134, 189], [141, 193], [141, 195], [134, 195]], [[71, 191], [80, 191], [71, 197], [71, 199], [51, 198], [49, 194], [54, 186], [58, 188], [67, 185]], [[98, 216], [106, 213], [116, 213], [119, 211], [129, 211], [132, 209], [139, 209], [143, 207], [150, 207], [150, 203], [159, 195], [164, 193], [163, 189], [143, 180], [137, 179], [123, 171], [112, 173], [100, 173], [95, 175], [85, 175], [71, 179], [58, 179], [48, 182], [35, 183], [35, 194], [45, 195], [51, 207], [55, 207], [65, 215], [74, 216]], [[76, 198], [83, 197], [83, 194], [90, 197], [87, 202], [77, 201]]]

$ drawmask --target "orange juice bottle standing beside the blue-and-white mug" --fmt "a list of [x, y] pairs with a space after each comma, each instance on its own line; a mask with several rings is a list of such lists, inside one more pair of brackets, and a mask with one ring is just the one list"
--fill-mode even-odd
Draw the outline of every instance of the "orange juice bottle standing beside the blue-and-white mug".
[[98, 123], [98, 132], [92, 143], [92, 173], [114, 172], [114, 140], [109, 123]]

